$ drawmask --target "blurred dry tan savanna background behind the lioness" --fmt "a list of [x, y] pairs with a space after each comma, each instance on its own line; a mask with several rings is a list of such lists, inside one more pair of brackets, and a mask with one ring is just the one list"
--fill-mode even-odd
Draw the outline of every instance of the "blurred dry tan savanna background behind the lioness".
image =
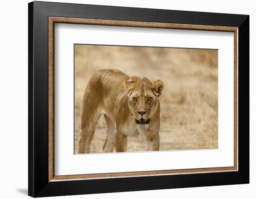
[[[129, 76], [161, 79], [160, 150], [218, 148], [218, 51], [134, 46], [74, 46], [74, 150], [81, 130], [83, 93], [93, 73], [113, 68]], [[103, 115], [90, 153], [102, 153]], [[141, 136], [128, 137], [128, 152], [144, 151]], [[114, 150], [115, 152], [115, 150]]]

